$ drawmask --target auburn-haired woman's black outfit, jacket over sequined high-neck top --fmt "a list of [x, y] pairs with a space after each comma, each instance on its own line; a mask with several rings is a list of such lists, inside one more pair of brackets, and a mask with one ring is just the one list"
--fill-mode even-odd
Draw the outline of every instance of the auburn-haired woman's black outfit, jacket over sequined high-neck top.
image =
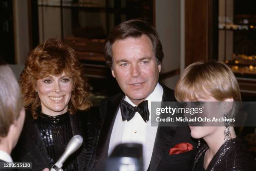
[[15, 162], [31, 162], [32, 168], [23, 169], [24, 171], [51, 169], [71, 137], [79, 134], [83, 137], [82, 146], [69, 156], [62, 168], [72, 171], [95, 170], [96, 148], [100, 135], [98, 116], [97, 107], [50, 119], [44, 114], [39, 114], [37, 119], [33, 119], [31, 112], [26, 111], [24, 126], [11, 157]]

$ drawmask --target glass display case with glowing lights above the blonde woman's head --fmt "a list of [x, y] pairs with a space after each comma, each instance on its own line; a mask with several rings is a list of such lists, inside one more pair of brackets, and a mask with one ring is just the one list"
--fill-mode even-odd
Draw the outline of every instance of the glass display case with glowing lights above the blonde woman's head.
[[256, 79], [255, 7], [255, 0], [219, 0], [218, 58], [241, 78]]

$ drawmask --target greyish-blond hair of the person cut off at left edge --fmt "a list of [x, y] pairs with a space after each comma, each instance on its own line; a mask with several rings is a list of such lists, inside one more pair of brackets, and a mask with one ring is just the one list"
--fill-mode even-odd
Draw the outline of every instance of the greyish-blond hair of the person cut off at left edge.
[[0, 136], [5, 137], [10, 125], [18, 119], [23, 109], [20, 87], [13, 71], [7, 65], [0, 65]]

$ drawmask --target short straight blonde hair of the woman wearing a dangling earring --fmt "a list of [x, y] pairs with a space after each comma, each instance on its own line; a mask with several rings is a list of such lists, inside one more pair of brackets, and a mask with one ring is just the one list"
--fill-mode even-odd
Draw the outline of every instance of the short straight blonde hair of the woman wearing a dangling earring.
[[241, 94], [235, 75], [220, 62], [195, 62], [182, 73], [176, 87], [177, 101], [196, 100], [212, 96], [218, 101], [233, 98], [241, 102]]

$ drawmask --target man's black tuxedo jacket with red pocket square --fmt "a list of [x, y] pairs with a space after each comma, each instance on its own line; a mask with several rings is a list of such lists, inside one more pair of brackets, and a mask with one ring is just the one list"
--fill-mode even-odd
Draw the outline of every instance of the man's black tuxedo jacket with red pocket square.
[[[174, 102], [174, 90], [161, 84], [163, 87], [162, 102]], [[124, 94], [117, 94], [113, 97], [102, 100], [100, 103], [101, 133], [96, 154], [96, 171], [104, 170], [104, 162], [108, 158], [108, 147], [110, 136], [118, 113], [120, 99]], [[164, 107], [164, 106], [162, 106]], [[193, 145], [192, 151], [169, 155], [169, 149], [176, 144], [188, 142]], [[156, 132], [154, 149], [148, 171], [190, 171], [195, 159], [196, 146], [190, 136], [188, 126], [186, 127], [166, 127], [159, 126]]]

